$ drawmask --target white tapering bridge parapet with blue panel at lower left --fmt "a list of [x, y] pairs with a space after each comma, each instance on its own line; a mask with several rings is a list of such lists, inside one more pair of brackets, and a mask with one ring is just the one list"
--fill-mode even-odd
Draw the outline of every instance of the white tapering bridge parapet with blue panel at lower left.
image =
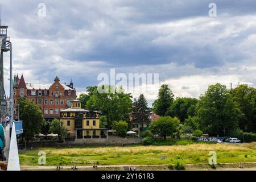
[[7, 171], [20, 171], [19, 152], [18, 152], [16, 135], [22, 134], [22, 133], [23, 133], [22, 121], [15, 121], [13, 123], [13, 129], [11, 130]]

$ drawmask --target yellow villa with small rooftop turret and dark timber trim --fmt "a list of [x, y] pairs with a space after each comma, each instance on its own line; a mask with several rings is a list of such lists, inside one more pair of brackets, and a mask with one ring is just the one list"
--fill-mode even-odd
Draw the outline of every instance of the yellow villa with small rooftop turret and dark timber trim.
[[71, 101], [71, 108], [60, 111], [60, 119], [71, 137], [106, 138], [107, 129], [100, 128], [101, 111], [81, 109], [81, 101]]

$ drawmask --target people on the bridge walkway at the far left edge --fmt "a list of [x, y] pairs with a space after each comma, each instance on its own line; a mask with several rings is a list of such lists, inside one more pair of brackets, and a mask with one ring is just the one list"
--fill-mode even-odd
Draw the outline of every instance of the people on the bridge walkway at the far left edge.
[[0, 161], [6, 161], [3, 150], [5, 149], [5, 132], [10, 118], [3, 115], [0, 119]]

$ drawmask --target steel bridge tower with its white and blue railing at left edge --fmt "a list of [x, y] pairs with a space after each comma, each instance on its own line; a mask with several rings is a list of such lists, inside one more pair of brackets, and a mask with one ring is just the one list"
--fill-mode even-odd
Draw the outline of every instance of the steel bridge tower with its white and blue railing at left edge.
[[[5, 156], [8, 161], [7, 171], [20, 171], [16, 136], [22, 134], [23, 129], [22, 121], [14, 121], [13, 119], [13, 47], [9, 36], [7, 36], [7, 28], [7, 26], [2, 26], [2, 23], [0, 23], [0, 116], [2, 117], [2, 115], [9, 115], [10, 117], [10, 125], [6, 128], [7, 131], [5, 132]], [[7, 52], [10, 53], [10, 59], [4, 60], [3, 55]], [[6, 61], [10, 61], [10, 97], [8, 98], [8, 103], [3, 82], [3, 65], [6, 64]]]

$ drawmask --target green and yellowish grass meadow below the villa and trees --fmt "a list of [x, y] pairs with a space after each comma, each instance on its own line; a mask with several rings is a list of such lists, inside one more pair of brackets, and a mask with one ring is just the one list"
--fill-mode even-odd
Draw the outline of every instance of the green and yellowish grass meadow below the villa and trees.
[[[217, 163], [256, 162], [256, 142], [243, 144], [193, 143], [173, 146], [38, 148], [19, 151], [20, 164], [39, 166], [38, 152], [46, 152], [46, 166], [150, 165], [208, 163], [209, 151]], [[165, 160], [161, 156], [166, 155]]]

